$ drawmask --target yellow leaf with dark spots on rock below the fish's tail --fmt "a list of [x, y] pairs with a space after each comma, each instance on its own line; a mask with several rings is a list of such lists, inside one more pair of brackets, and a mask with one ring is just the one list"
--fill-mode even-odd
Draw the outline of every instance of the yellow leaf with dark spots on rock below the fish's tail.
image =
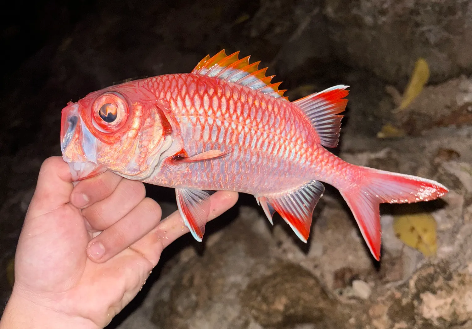
[[398, 239], [424, 256], [436, 255], [437, 223], [429, 213], [395, 216], [393, 229]]

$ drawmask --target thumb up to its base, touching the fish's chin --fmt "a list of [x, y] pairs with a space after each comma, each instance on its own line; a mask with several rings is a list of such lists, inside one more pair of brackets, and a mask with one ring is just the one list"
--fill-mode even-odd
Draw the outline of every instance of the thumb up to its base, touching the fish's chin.
[[25, 220], [65, 205], [70, 201], [73, 188], [68, 164], [59, 156], [46, 159], [39, 170], [38, 183]]

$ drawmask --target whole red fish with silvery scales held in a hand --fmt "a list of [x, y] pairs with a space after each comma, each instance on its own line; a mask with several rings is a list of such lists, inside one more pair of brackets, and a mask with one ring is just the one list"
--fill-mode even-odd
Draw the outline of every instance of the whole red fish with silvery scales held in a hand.
[[348, 94], [335, 86], [288, 101], [249, 56], [207, 55], [191, 73], [95, 91], [62, 110], [61, 149], [75, 179], [110, 170], [176, 189], [177, 205], [202, 240], [211, 191], [253, 194], [272, 223], [277, 211], [307, 241], [313, 209], [335, 186], [372, 255], [380, 257], [379, 204], [429, 201], [443, 185], [355, 166], [336, 147]]

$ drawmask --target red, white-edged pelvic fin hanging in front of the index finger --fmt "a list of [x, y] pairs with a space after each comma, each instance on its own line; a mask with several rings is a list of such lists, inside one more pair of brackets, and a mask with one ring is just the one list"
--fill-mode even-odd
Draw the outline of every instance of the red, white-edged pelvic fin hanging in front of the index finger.
[[208, 214], [210, 214], [210, 195], [197, 189], [177, 188], [176, 198], [185, 226], [188, 227], [195, 240], [201, 242]]

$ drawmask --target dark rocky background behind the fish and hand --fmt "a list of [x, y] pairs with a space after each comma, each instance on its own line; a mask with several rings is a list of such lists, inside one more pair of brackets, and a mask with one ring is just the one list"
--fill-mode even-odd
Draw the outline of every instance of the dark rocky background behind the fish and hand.
[[[417, 208], [382, 206], [379, 264], [337, 191], [317, 206], [308, 245], [280, 218], [267, 225], [254, 199], [241, 195], [209, 224], [203, 244], [185, 236], [169, 247], [109, 327], [472, 327], [470, 0], [17, 0], [2, 4], [0, 16], [2, 303], [38, 169], [60, 154], [65, 104], [128, 78], [189, 72], [225, 48], [261, 60], [292, 101], [350, 85], [333, 152], [436, 179], [451, 192]], [[419, 57], [429, 64], [429, 83], [397, 112]], [[387, 124], [400, 136], [377, 138]], [[165, 213], [176, 209], [166, 196], [172, 191], [147, 191]], [[396, 237], [395, 216], [405, 211], [436, 221], [434, 256]]]

